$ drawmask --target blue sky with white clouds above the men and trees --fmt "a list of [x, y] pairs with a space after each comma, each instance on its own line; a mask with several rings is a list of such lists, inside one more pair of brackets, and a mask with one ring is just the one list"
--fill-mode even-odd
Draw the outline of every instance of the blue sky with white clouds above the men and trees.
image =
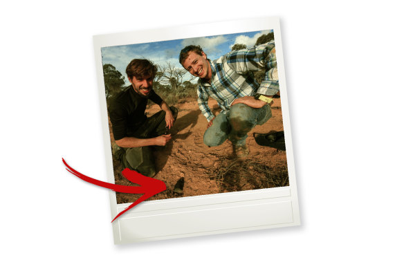
[[102, 64], [115, 66], [125, 76], [125, 83], [129, 85], [125, 70], [132, 59], [150, 59], [158, 65], [169, 62], [178, 68], [183, 68], [178, 62], [178, 55], [187, 45], [199, 45], [209, 59], [217, 59], [230, 52], [234, 44], [245, 44], [251, 47], [254, 46], [258, 37], [270, 32], [272, 30], [104, 47], [101, 48]]

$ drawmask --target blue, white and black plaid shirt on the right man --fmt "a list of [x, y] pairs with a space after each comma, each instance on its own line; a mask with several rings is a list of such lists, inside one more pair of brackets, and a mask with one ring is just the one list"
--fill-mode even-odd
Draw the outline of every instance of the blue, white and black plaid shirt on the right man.
[[[223, 113], [227, 113], [230, 104], [243, 96], [274, 95], [279, 91], [275, 42], [261, 44], [253, 48], [232, 51], [219, 59], [210, 61], [211, 82], [199, 79], [198, 104], [208, 122], [214, 114], [208, 106], [208, 98], [217, 100]], [[253, 71], [264, 70], [261, 84], [254, 78]]]

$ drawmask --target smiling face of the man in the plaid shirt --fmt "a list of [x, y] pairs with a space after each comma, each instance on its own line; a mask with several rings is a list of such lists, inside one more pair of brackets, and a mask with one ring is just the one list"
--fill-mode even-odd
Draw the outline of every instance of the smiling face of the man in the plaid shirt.
[[199, 55], [194, 51], [190, 51], [183, 61], [183, 67], [195, 77], [201, 77], [205, 80], [210, 80], [210, 77], [212, 77], [210, 63], [203, 52], [202, 55]]

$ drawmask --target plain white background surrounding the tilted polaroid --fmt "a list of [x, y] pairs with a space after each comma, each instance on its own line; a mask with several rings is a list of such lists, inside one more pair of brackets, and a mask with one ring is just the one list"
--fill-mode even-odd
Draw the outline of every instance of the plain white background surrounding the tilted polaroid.
[[[239, 3], [239, 6], [236, 5]], [[395, 1], [1, 3], [1, 261], [15, 268], [402, 268]], [[113, 245], [93, 35], [279, 16], [302, 225]]]

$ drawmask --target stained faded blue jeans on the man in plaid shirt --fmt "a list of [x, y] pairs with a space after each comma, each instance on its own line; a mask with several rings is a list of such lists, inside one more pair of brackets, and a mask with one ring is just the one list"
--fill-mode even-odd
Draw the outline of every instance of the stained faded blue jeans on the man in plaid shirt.
[[269, 104], [261, 109], [253, 109], [246, 104], [235, 104], [228, 113], [219, 113], [214, 118], [212, 125], [205, 131], [203, 142], [209, 147], [216, 147], [226, 139], [233, 145], [246, 145], [247, 133], [255, 125], [262, 125], [272, 116]]

